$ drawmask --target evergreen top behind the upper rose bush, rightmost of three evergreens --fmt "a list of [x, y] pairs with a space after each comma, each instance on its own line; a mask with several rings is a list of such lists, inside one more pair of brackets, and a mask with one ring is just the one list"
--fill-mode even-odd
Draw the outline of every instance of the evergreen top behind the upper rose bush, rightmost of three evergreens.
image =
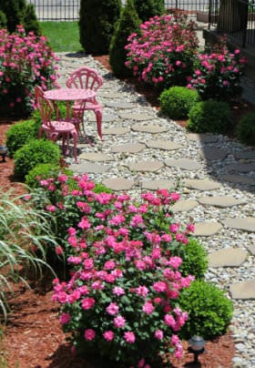
[[143, 23], [154, 15], [165, 13], [164, 0], [134, 0], [134, 5]]

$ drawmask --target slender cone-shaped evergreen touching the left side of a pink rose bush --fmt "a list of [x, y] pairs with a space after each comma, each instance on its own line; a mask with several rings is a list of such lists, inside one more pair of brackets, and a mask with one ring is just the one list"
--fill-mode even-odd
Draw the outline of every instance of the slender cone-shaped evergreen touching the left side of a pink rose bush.
[[117, 21], [117, 27], [109, 48], [109, 63], [117, 77], [129, 77], [132, 75], [132, 70], [125, 66], [127, 61], [125, 46], [128, 44], [128, 36], [132, 33], [139, 34], [140, 23], [141, 21], [138, 18], [133, 0], [128, 0]]

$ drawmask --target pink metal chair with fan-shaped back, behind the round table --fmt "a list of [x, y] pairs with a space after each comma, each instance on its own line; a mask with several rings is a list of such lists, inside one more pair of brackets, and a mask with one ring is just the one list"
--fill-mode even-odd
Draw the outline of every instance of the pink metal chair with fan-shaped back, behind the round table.
[[[104, 83], [104, 80], [97, 70], [87, 66], [81, 66], [71, 73], [66, 80], [66, 87], [68, 88], [85, 88], [97, 91]], [[103, 107], [97, 102], [97, 97], [90, 98], [86, 103], [76, 101], [73, 106], [73, 117], [77, 118], [81, 124], [84, 121], [85, 110], [94, 111], [97, 118], [97, 133], [102, 139], [102, 115]], [[83, 126], [84, 128], [84, 126]]]

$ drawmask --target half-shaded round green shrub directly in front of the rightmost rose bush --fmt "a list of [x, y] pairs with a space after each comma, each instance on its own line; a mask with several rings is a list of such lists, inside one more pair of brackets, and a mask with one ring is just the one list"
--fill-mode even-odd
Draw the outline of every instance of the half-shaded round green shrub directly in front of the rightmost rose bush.
[[213, 99], [197, 102], [188, 118], [187, 127], [197, 133], [225, 134], [232, 122], [230, 105]]

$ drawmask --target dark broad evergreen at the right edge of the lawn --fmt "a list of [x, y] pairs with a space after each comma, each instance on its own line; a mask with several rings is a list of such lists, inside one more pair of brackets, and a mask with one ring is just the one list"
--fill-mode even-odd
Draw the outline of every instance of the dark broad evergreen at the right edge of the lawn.
[[108, 54], [121, 0], [81, 0], [79, 35], [87, 54]]

